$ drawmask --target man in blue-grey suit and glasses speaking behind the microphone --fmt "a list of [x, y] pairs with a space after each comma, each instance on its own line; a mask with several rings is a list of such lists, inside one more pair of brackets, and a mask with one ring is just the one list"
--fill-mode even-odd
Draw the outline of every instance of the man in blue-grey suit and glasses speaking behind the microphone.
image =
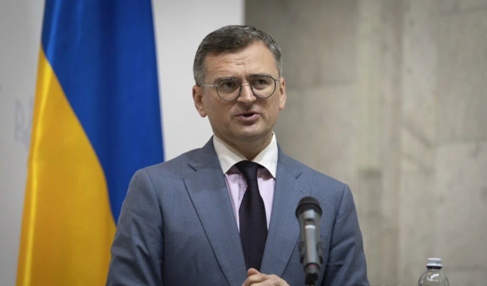
[[305, 285], [295, 210], [306, 196], [323, 210], [317, 285], [368, 285], [350, 189], [277, 144], [272, 129], [286, 88], [270, 35], [220, 28], [203, 39], [193, 69], [194, 105], [214, 136], [134, 174], [107, 285]]

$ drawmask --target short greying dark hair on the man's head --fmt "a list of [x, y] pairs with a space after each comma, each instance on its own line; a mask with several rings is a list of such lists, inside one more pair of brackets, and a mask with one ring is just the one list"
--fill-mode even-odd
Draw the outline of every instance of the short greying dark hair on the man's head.
[[281, 49], [272, 37], [249, 25], [229, 25], [209, 33], [196, 51], [193, 75], [196, 84], [202, 84], [206, 75], [205, 59], [209, 54], [235, 52], [255, 41], [264, 43], [274, 57], [279, 77], [282, 74]]

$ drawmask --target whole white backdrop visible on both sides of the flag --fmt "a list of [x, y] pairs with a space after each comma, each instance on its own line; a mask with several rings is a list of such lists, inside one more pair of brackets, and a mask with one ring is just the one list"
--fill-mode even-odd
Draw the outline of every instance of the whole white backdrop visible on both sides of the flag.
[[[192, 104], [196, 48], [212, 30], [243, 23], [243, 0], [154, 1], [165, 158], [205, 143]], [[43, 1], [0, 1], [0, 285], [15, 285]], [[230, 13], [229, 11], [234, 11]]]

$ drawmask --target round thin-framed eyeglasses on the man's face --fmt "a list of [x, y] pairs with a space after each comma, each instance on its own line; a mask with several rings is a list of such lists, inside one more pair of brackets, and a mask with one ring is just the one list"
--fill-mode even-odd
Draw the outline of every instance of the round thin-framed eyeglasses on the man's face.
[[224, 78], [217, 84], [200, 84], [200, 86], [213, 86], [217, 88], [218, 96], [225, 101], [236, 100], [242, 91], [242, 85], [247, 83], [250, 85], [253, 95], [258, 98], [268, 98], [276, 90], [276, 81], [270, 75], [257, 75], [250, 81], [240, 82], [235, 78]]

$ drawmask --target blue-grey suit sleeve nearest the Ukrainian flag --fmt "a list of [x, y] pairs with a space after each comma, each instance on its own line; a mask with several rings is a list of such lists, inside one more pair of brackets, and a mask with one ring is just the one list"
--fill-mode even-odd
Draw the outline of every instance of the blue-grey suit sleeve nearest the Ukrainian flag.
[[162, 285], [162, 213], [144, 169], [132, 177], [122, 204], [106, 285]]

